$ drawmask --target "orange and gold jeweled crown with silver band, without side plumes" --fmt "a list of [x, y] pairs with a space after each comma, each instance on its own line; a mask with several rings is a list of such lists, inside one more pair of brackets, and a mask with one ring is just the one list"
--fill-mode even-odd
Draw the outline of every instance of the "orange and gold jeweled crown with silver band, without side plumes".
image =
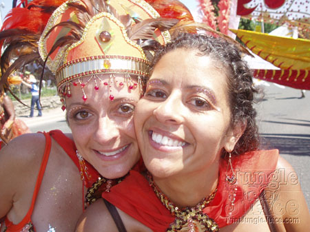
[[[56, 9], [39, 41], [39, 52], [56, 74], [57, 87], [90, 74], [147, 76], [149, 61], [137, 41], [141, 42], [150, 35], [143, 38], [143, 33], [138, 31], [138, 23], [158, 18], [156, 10], [141, 0], [111, 0], [103, 1], [103, 12], [92, 13], [87, 12], [90, 7], [84, 2], [69, 0]], [[81, 9], [85, 10], [84, 14]], [[87, 21], [85, 14], [93, 16]], [[138, 33], [141, 38], [138, 38]], [[154, 28], [152, 33], [157, 43], [163, 45], [169, 40], [168, 32]], [[72, 36], [80, 38], [71, 44], [59, 43], [54, 49], [57, 41]]]

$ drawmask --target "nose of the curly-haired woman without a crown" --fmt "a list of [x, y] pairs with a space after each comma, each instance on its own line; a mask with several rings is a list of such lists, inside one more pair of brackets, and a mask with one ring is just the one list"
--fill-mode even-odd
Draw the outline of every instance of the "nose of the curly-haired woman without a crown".
[[183, 122], [183, 102], [181, 94], [170, 94], [165, 101], [157, 103], [154, 116], [161, 123], [180, 124]]

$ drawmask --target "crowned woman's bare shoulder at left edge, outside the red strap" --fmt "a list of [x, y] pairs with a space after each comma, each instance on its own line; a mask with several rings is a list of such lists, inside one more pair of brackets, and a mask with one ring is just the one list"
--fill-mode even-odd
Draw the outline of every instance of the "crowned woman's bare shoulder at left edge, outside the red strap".
[[20, 189], [37, 173], [34, 171], [39, 169], [44, 147], [43, 134], [24, 134], [0, 150], [0, 218], [8, 213], [22, 192]]

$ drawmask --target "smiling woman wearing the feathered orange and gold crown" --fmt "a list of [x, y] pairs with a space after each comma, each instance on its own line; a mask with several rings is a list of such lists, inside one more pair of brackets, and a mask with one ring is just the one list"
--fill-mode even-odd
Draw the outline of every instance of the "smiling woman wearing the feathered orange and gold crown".
[[73, 231], [87, 188], [86, 205], [99, 187], [108, 192], [143, 168], [132, 114], [152, 50], [178, 19], [161, 18], [141, 0], [60, 3], [15, 8], [0, 33], [1, 85], [23, 65], [46, 64], [72, 130], [19, 136], [1, 150], [1, 232]]

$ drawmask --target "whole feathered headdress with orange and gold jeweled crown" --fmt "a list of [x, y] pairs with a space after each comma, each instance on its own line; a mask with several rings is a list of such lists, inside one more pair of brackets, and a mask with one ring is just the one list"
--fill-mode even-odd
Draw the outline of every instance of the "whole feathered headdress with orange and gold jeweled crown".
[[[143, 0], [69, 0], [56, 10], [52, 8], [53, 14], [46, 23], [51, 2], [54, 1], [34, 0], [26, 6], [25, 14], [31, 18], [25, 21], [34, 23], [32, 29], [21, 21], [15, 27], [8, 20], [10, 16], [6, 19], [0, 32], [0, 40], [6, 48], [1, 57], [2, 85], [17, 67], [39, 59], [56, 74], [61, 98], [70, 96], [70, 83], [83, 89], [82, 76], [96, 78], [94, 74], [101, 73], [147, 76], [152, 50], [169, 41], [167, 30], [178, 19], [192, 17], [176, 0], [161, 1], [161, 5], [158, 1], [149, 1], [157, 4], [161, 15]], [[59, 0], [56, 5], [62, 2]], [[172, 4], [176, 4], [176, 8]], [[185, 14], [176, 13], [183, 10]], [[172, 18], [172, 12], [176, 13], [177, 20]], [[42, 17], [34, 18], [37, 14]], [[39, 25], [35, 23], [38, 18], [42, 19]], [[43, 32], [42, 24], [46, 24]], [[13, 56], [17, 59], [9, 65]]]

